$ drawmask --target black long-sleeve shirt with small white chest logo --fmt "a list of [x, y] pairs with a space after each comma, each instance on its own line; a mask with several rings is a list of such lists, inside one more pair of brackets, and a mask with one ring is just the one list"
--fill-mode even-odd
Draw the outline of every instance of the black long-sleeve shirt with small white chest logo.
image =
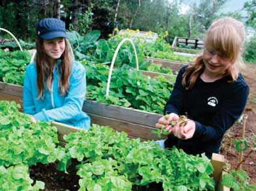
[[164, 114], [171, 112], [184, 115], [195, 121], [195, 133], [188, 140], [179, 140], [169, 134], [165, 147], [176, 146], [186, 153], [196, 155], [205, 153], [208, 158], [218, 153], [223, 134], [240, 117], [249, 95], [249, 86], [239, 74], [230, 83], [226, 76], [212, 83], [205, 83], [200, 77], [192, 90], [182, 86], [182, 75], [188, 66], [178, 73], [173, 92], [165, 105]]

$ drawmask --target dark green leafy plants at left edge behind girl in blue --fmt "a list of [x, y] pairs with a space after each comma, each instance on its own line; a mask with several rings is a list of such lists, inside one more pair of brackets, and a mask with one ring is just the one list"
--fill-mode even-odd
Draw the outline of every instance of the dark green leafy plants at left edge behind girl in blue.
[[28, 51], [5, 52], [0, 49], [0, 81], [22, 85], [25, 67], [30, 59], [31, 55]]

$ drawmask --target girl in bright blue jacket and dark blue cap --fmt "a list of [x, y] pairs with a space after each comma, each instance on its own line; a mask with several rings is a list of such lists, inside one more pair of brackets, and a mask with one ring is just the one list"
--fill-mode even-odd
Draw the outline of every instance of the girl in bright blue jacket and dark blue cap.
[[24, 112], [34, 120], [89, 129], [90, 118], [81, 110], [86, 93], [85, 68], [74, 60], [64, 22], [42, 19], [36, 34], [35, 61], [25, 73]]

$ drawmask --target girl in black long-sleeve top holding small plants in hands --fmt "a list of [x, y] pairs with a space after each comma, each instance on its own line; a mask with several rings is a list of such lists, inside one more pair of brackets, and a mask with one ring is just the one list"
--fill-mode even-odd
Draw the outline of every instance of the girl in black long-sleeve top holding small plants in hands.
[[[221, 18], [210, 25], [203, 55], [179, 71], [165, 105], [169, 115], [156, 123], [170, 133], [167, 140], [158, 141], [160, 146], [205, 153], [208, 158], [219, 152], [225, 131], [240, 117], [248, 99], [249, 86], [239, 73], [244, 38], [244, 25], [236, 19]], [[188, 121], [171, 127], [171, 121], [180, 121], [185, 114]]]

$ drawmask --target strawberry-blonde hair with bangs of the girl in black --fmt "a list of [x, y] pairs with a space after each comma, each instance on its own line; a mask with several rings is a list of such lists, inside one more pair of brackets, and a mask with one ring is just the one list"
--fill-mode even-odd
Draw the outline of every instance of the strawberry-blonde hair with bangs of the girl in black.
[[[236, 81], [239, 68], [244, 66], [241, 56], [242, 44], [245, 38], [244, 25], [233, 18], [221, 18], [210, 25], [205, 35], [205, 47], [213, 49], [220, 55], [225, 55], [231, 61], [231, 66], [223, 75], [231, 76], [232, 81]], [[203, 55], [195, 60], [193, 66], [188, 67], [182, 76], [182, 86], [191, 90], [197, 78], [205, 70]]]

